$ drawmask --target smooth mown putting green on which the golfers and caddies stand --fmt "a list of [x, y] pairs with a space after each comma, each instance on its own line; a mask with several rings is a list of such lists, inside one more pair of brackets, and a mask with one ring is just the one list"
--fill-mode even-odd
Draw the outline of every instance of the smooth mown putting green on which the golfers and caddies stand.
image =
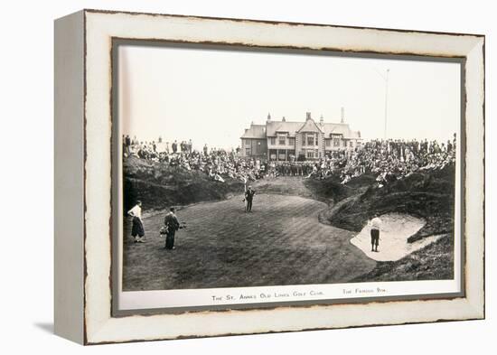
[[133, 243], [131, 220], [125, 220], [123, 289], [341, 283], [377, 264], [352, 246], [352, 232], [317, 222], [323, 202], [260, 193], [252, 213], [245, 213], [241, 199], [179, 210], [188, 227], [176, 233], [175, 250], [164, 250], [158, 235], [164, 213], [145, 217], [144, 244]]

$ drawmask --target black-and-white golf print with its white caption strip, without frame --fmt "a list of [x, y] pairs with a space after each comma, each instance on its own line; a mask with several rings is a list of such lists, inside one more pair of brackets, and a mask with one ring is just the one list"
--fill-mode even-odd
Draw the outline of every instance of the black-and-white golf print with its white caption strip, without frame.
[[123, 300], [461, 291], [461, 61], [122, 41], [113, 66]]

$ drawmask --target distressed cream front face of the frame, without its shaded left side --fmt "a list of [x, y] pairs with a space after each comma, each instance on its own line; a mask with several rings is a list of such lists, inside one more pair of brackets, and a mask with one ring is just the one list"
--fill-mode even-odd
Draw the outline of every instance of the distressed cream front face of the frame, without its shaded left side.
[[[85, 343], [484, 318], [484, 37], [84, 11]], [[112, 38], [465, 57], [465, 297], [111, 317]]]

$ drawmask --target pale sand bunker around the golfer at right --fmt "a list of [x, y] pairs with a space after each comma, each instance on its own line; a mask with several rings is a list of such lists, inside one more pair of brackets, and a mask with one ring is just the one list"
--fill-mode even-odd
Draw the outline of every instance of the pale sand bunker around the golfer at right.
[[365, 226], [361, 233], [351, 239], [352, 245], [360, 248], [366, 256], [376, 261], [395, 261], [420, 248], [433, 243], [441, 236], [422, 238], [408, 243], [408, 238], [425, 225], [424, 220], [408, 214], [389, 213], [380, 216], [380, 247], [378, 252], [371, 251], [370, 227]]

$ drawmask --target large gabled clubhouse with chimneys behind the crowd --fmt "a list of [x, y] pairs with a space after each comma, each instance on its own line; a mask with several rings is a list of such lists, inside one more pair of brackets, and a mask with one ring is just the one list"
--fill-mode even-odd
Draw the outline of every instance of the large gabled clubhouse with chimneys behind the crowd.
[[323, 116], [316, 123], [310, 112], [305, 122], [273, 120], [268, 114], [266, 125], [252, 123], [240, 138], [242, 156], [282, 162], [316, 160], [361, 146], [361, 132], [344, 123], [343, 109], [341, 123], [325, 123]]

